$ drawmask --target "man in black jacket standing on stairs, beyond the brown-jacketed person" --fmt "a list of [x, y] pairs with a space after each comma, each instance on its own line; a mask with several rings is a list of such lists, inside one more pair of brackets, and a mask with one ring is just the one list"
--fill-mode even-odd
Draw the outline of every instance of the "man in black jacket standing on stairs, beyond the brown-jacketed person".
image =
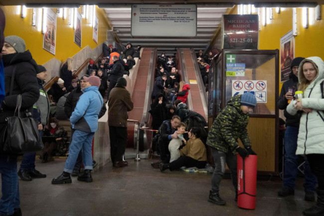
[[119, 59], [117, 55], [113, 56], [113, 68], [108, 72], [108, 92], [107, 92], [107, 100], [109, 99], [110, 91], [115, 87], [117, 80], [119, 77], [123, 77], [125, 73], [125, 62], [122, 59]]

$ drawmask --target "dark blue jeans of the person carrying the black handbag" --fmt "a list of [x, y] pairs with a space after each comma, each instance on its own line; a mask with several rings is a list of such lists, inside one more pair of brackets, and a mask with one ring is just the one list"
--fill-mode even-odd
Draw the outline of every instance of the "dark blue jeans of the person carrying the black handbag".
[[9, 216], [20, 208], [17, 157], [0, 155], [1, 192], [0, 216]]

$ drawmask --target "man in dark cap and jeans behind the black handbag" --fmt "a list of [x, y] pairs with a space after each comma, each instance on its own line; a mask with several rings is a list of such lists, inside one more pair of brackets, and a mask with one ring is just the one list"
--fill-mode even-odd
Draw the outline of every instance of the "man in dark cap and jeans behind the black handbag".
[[[49, 101], [43, 88], [44, 80], [47, 78], [47, 71], [42, 65], [37, 65], [36, 72], [39, 87], [39, 98], [34, 104], [33, 117], [39, 121], [39, 137], [42, 137], [43, 127], [47, 125], [49, 116]], [[18, 171], [18, 176], [22, 181], [31, 181], [32, 178], [46, 178], [45, 174], [41, 174], [35, 169], [35, 157], [35, 152], [29, 152], [23, 155], [23, 159]]]

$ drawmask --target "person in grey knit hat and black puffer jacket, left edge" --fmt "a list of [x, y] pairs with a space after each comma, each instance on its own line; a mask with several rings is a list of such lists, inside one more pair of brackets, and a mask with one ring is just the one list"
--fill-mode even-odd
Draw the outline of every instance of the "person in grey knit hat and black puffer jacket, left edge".
[[[39, 89], [36, 78], [36, 62], [32, 59], [26, 45], [18, 36], [4, 38], [2, 61], [4, 65], [5, 97], [0, 110], [0, 135], [4, 134], [5, 118], [14, 115], [18, 94], [21, 95], [21, 113], [26, 109], [32, 112], [33, 104], [38, 100]], [[13, 72], [14, 82], [10, 93], [10, 83]], [[2, 139], [0, 139], [2, 140]], [[3, 146], [0, 143], [0, 146]], [[13, 215], [20, 212], [20, 198], [17, 176], [17, 156], [0, 154], [0, 173], [2, 184], [2, 198], [0, 201], [0, 215]]]

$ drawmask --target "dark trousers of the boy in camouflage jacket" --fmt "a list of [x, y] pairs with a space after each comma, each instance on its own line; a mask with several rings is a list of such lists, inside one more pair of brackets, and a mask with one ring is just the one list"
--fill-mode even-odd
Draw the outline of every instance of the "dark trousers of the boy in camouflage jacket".
[[219, 192], [219, 184], [225, 173], [225, 162], [231, 171], [232, 184], [237, 193], [237, 158], [229, 150], [227, 153], [211, 148], [211, 155], [214, 158], [215, 169], [211, 177], [211, 191]]

